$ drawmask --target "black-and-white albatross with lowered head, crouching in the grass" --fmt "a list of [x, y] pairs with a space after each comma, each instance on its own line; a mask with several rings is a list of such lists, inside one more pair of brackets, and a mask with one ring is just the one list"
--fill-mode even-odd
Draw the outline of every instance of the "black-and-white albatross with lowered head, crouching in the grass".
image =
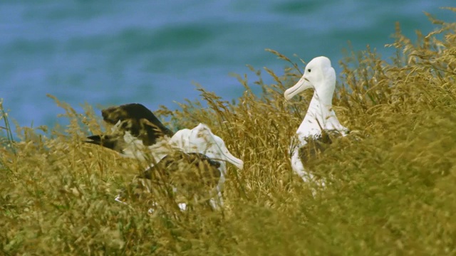
[[[225, 162], [243, 168], [244, 162], [233, 156], [224, 141], [205, 124], [174, 134], [140, 104], [110, 107], [102, 110], [102, 115], [105, 122], [114, 124], [113, 134], [90, 136], [86, 142], [113, 149], [122, 156], [147, 161], [150, 167], [140, 178], [150, 179], [152, 186], [158, 182], [156, 178], [161, 177], [160, 182], [169, 182], [175, 191], [186, 190], [182, 193], [187, 196], [194, 193], [193, 188], [206, 186], [211, 194], [211, 205], [217, 207], [223, 203], [221, 190], [226, 174]], [[120, 196], [116, 201], [122, 201]], [[181, 208], [185, 207], [185, 203], [182, 204]]]

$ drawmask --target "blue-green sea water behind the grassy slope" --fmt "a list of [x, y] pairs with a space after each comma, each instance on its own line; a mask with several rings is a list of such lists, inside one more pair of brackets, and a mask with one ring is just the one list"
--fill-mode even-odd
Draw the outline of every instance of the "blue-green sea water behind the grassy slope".
[[[454, 0], [0, 1], [0, 98], [21, 126], [58, 122], [63, 111], [140, 102], [152, 110], [195, 100], [194, 83], [227, 100], [242, 95], [232, 73], [282, 73], [272, 48], [308, 61], [367, 45], [393, 53], [395, 22], [406, 36], [435, 28], [423, 13], [455, 21]], [[298, 61], [297, 58], [292, 58]], [[267, 75], [264, 75], [267, 80]], [[2, 122], [0, 121], [0, 126]]]

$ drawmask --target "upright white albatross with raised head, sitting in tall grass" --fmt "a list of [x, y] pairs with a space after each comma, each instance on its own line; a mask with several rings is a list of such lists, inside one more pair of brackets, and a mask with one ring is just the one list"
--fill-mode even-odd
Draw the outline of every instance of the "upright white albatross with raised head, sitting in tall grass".
[[302, 78], [284, 93], [285, 99], [290, 100], [304, 90], [314, 89], [309, 109], [290, 146], [291, 166], [304, 181], [314, 178], [306, 169], [306, 161], [323, 151], [333, 138], [346, 136], [349, 132], [333, 111], [335, 87], [336, 71], [331, 66], [331, 60], [321, 56], [312, 59], [306, 65]]

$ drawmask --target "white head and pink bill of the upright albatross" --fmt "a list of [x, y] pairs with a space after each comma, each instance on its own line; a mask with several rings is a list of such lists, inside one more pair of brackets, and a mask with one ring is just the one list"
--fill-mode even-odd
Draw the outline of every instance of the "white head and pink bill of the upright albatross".
[[296, 85], [285, 91], [286, 100], [290, 100], [295, 95], [307, 89], [314, 89], [318, 97], [329, 100], [333, 97], [334, 87], [336, 87], [336, 71], [331, 66], [331, 60], [324, 56], [316, 57], [307, 63], [302, 78]]

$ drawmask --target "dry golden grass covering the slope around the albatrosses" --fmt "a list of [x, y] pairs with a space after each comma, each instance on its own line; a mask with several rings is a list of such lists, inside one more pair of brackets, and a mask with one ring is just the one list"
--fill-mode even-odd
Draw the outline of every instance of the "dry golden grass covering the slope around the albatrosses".
[[19, 127], [16, 142], [3, 112], [1, 254], [456, 255], [456, 23], [432, 22], [440, 29], [415, 43], [398, 26], [388, 62], [369, 48], [339, 62], [333, 103], [363, 139], [340, 139], [315, 161], [329, 180], [315, 197], [289, 164], [311, 93], [285, 102], [283, 92], [303, 64], [273, 50], [291, 65], [281, 77], [265, 68], [274, 84], [258, 70], [255, 85], [239, 77], [236, 102], [199, 87], [207, 107], [155, 112], [174, 130], [208, 124], [244, 160], [229, 166], [222, 210], [149, 215], [145, 201], [115, 202], [141, 165], [81, 142], [103, 128], [90, 106], [56, 100], [70, 125], [41, 127], [46, 136]]

